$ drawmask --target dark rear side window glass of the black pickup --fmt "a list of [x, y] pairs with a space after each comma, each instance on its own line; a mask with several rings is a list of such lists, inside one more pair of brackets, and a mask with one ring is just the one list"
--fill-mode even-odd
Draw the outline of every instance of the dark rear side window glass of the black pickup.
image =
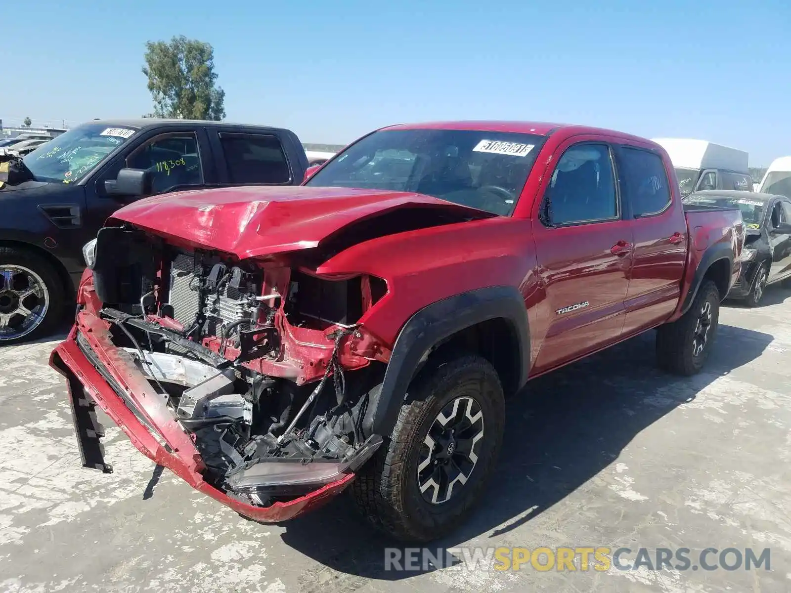
[[289, 183], [291, 172], [277, 136], [220, 134], [231, 183]]

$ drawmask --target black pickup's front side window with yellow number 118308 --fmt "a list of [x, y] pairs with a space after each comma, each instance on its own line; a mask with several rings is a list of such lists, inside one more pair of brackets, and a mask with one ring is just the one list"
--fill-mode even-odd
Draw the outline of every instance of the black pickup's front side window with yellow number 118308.
[[127, 157], [127, 167], [152, 172], [155, 194], [178, 185], [203, 183], [198, 139], [194, 132], [152, 138]]

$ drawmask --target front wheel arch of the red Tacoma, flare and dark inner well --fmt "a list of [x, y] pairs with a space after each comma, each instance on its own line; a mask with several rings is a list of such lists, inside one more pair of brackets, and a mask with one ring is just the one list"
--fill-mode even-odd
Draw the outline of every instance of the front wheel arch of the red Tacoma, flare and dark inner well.
[[530, 333], [524, 297], [512, 286], [460, 293], [427, 305], [404, 324], [384, 380], [372, 392], [365, 432], [388, 436], [407, 387], [438, 349], [479, 353], [497, 370], [505, 393], [518, 391], [530, 368]]

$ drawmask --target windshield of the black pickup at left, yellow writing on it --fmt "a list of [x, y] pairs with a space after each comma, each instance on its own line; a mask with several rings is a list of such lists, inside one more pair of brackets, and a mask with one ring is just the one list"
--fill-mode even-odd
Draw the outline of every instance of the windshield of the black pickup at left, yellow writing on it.
[[136, 131], [86, 123], [40, 145], [23, 160], [36, 181], [73, 183], [88, 175]]

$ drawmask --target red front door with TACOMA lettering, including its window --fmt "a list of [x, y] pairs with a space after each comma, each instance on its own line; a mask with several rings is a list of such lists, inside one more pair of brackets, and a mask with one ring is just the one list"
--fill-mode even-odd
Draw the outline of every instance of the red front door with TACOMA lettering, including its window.
[[561, 149], [539, 201], [539, 212], [550, 213], [534, 215], [545, 291], [534, 373], [618, 341], [626, 319], [634, 239], [622, 215], [613, 149], [596, 137]]

